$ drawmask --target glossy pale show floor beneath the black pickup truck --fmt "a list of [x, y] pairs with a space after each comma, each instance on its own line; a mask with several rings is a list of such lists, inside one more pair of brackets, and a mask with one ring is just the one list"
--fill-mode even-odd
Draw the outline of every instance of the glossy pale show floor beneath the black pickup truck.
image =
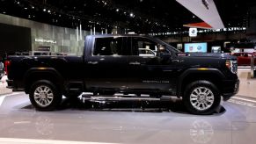
[[233, 97], [222, 105], [196, 116], [177, 99], [79, 97], [37, 112], [27, 95], [14, 92], [0, 96], [0, 143], [255, 144], [256, 100]]

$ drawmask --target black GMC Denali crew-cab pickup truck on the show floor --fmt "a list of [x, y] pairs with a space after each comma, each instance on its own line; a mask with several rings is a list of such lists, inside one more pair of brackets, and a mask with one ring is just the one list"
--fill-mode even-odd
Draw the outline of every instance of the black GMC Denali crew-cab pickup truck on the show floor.
[[8, 85], [25, 90], [39, 111], [65, 97], [94, 94], [177, 96], [194, 114], [210, 114], [238, 92], [237, 58], [185, 54], [144, 35], [87, 36], [81, 56], [9, 56]]

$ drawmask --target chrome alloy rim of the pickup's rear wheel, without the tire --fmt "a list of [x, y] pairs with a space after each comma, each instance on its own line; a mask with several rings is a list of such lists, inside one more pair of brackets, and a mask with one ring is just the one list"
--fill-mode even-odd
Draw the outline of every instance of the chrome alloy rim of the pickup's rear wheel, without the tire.
[[49, 104], [52, 104], [54, 93], [48, 86], [40, 85], [34, 90], [33, 98], [36, 104], [39, 104], [41, 107], [47, 107]]

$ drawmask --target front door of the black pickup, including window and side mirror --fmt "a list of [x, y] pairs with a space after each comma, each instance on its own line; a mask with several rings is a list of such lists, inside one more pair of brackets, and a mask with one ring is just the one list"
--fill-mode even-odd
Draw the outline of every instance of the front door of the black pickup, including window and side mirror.
[[[160, 56], [157, 42], [141, 37], [128, 38], [128, 52], [129, 89], [172, 91], [175, 66], [171, 57]], [[164, 53], [171, 56], [170, 51]]]

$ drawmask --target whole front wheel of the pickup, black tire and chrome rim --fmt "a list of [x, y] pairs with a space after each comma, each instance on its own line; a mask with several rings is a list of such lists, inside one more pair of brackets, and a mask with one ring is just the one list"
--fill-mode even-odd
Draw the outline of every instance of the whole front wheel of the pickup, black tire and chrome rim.
[[[202, 90], [204, 92], [200, 92]], [[183, 102], [188, 112], [207, 115], [216, 112], [221, 103], [221, 96], [215, 84], [202, 80], [187, 85]]]

